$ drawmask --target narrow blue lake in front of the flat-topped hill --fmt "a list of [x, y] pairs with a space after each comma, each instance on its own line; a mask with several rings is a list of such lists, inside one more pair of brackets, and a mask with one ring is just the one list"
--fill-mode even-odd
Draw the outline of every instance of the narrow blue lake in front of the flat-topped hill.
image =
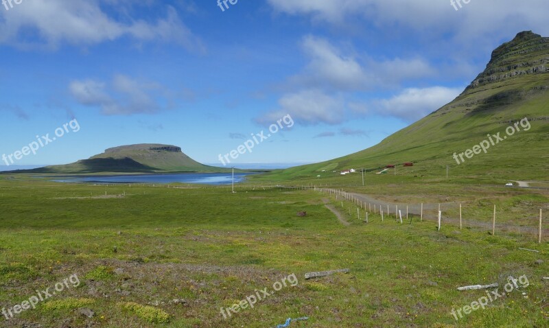
[[[235, 183], [246, 180], [253, 173], [235, 173]], [[64, 176], [60, 183], [196, 183], [202, 185], [231, 185], [230, 173], [139, 174], [121, 176]]]

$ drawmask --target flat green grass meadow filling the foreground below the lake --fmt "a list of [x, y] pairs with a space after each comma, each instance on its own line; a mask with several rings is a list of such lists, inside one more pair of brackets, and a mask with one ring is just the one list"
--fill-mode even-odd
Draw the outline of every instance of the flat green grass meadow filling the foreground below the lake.
[[[403, 185], [404, 186], [404, 185]], [[428, 194], [434, 198], [435, 185]], [[361, 187], [356, 186], [360, 191]], [[372, 187], [373, 188], [373, 187]], [[0, 179], [0, 307], [12, 307], [78, 274], [66, 288], [5, 327], [543, 327], [549, 314], [547, 242], [434, 222], [399, 224], [379, 215], [356, 219], [344, 202], [343, 226], [313, 191], [226, 187], [105, 187]], [[395, 192], [406, 195], [404, 190]], [[100, 198], [122, 194], [125, 198]], [[458, 188], [439, 185], [438, 192]], [[349, 190], [351, 191], [351, 190]], [[502, 189], [502, 204], [547, 202], [545, 194]], [[489, 195], [482, 187], [474, 194]], [[94, 198], [89, 198], [89, 196]], [[386, 197], [390, 191], [383, 191]], [[380, 195], [383, 196], [383, 195]], [[86, 198], [88, 197], [88, 198]], [[471, 199], [471, 202], [474, 200]], [[331, 198], [340, 207], [340, 200]], [[525, 205], [526, 206], [526, 205]], [[347, 208], [352, 209], [351, 215]], [[307, 211], [305, 218], [297, 211]], [[473, 214], [471, 214], [473, 215]], [[509, 218], [512, 222], [513, 218]], [[535, 248], [541, 253], [518, 250]], [[536, 263], [538, 259], [543, 263]], [[349, 274], [305, 281], [303, 274], [349, 268]], [[221, 307], [296, 274], [283, 288], [229, 319]], [[504, 283], [526, 275], [530, 286], [460, 319], [452, 308], [481, 291], [460, 285]], [[85, 304], [78, 300], [86, 300]], [[185, 300], [174, 303], [172, 300]], [[545, 301], [544, 301], [545, 300]], [[128, 304], [131, 304], [129, 306]], [[124, 310], [121, 310], [121, 305]], [[51, 311], [49, 308], [51, 307]], [[83, 318], [75, 307], [88, 307]], [[167, 322], [169, 318], [169, 322]]]

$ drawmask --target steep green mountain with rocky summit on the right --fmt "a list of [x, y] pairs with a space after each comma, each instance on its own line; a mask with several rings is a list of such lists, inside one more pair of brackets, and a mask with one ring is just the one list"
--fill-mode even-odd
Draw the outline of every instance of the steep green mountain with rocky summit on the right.
[[[506, 128], [521, 119], [519, 132]], [[528, 124], [530, 128], [528, 128]], [[511, 130], [510, 130], [511, 131]], [[486, 153], [465, 162], [453, 158], [498, 134]], [[492, 138], [495, 142], [495, 137]], [[478, 150], [478, 148], [476, 148]], [[470, 153], [467, 153], [470, 154]], [[459, 160], [460, 161], [460, 160]], [[413, 167], [401, 164], [414, 162]], [[460, 161], [461, 162], [461, 161]], [[491, 179], [549, 178], [549, 38], [522, 32], [495, 49], [487, 68], [453, 102], [361, 152], [324, 163], [272, 172], [266, 178], [311, 178], [355, 168], [377, 172], [397, 165], [401, 175], [441, 176], [449, 165], [452, 176]], [[326, 172], [323, 172], [326, 171]], [[392, 173], [392, 172], [391, 172]]]

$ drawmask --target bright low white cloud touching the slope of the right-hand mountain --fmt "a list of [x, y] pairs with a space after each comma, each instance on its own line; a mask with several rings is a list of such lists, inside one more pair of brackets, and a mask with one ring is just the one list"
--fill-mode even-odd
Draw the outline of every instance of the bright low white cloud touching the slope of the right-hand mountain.
[[406, 89], [399, 95], [390, 99], [383, 99], [377, 102], [377, 113], [400, 117], [406, 121], [417, 121], [434, 110], [437, 110], [452, 102], [463, 88], [446, 88], [433, 86], [425, 89]]

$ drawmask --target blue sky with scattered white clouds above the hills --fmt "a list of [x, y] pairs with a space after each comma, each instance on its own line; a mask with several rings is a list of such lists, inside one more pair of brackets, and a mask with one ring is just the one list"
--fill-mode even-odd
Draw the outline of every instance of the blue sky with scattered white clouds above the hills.
[[549, 36], [546, 0], [4, 1], [0, 165], [165, 143], [223, 166], [254, 137], [232, 163], [326, 161], [451, 102], [518, 32]]

